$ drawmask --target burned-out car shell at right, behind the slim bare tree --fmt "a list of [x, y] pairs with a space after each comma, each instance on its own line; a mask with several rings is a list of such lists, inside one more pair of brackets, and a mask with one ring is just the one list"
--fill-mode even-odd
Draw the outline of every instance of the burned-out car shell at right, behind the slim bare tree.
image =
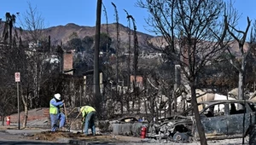
[[[255, 123], [254, 103], [250, 101], [206, 101], [198, 103], [198, 109], [207, 139], [246, 136], [250, 126]], [[150, 125], [148, 136], [183, 142], [199, 137], [192, 107], [180, 115], [162, 120], [160, 124]]]

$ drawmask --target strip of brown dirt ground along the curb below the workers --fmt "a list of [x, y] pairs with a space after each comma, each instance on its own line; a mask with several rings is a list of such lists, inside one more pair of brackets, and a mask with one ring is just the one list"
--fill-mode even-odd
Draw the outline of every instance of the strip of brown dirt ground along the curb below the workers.
[[[17, 130], [17, 127], [11, 127], [11, 126], [0, 126], [0, 131], [5, 132], [6, 130]], [[25, 130], [38, 130], [36, 128], [26, 128]], [[13, 135], [17, 137], [16, 135]], [[34, 141], [43, 141], [43, 142], [58, 142], [59, 139], [67, 138], [71, 140], [79, 140], [79, 141], [86, 141], [86, 142], [112, 142], [112, 143], [119, 143], [119, 142], [136, 142], [138, 144], [142, 142], [148, 142], [149, 144], [160, 144], [160, 143], [166, 143], [166, 144], [179, 144], [175, 142], [166, 142], [165, 140], [155, 140], [152, 138], [146, 138], [141, 139], [140, 137], [133, 137], [133, 136], [114, 136], [111, 133], [104, 133], [104, 134], [97, 134], [96, 136], [84, 136], [81, 132], [68, 132], [68, 131], [42, 131], [40, 133], [32, 133], [32, 136], [30, 133], [28, 133], [26, 136], [21, 134], [22, 138], [26, 138], [27, 140], [34, 140]], [[208, 141], [209, 145], [241, 145], [242, 144], [241, 138], [236, 139], [225, 139], [225, 140], [212, 140]], [[200, 142], [190, 142], [190, 143], [181, 143], [181, 144], [193, 144], [193, 145], [200, 145]], [[248, 144], [248, 137], [245, 138], [245, 144]]]

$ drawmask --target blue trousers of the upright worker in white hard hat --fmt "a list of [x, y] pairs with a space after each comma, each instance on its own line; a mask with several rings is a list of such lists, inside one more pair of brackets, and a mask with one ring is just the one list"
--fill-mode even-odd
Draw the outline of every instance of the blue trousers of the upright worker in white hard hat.
[[[56, 131], [58, 127], [59, 128], [63, 127], [66, 120], [64, 113], [49, 114], [49, 118], [50, 118], [51, 131]], [[59, 120], [60, 120], [60, 125], [58, 126]]]

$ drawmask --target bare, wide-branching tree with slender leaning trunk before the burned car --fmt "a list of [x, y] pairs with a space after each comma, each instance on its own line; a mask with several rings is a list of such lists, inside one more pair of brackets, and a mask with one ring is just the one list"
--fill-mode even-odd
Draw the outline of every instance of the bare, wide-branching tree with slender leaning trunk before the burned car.
[[148, 44], [165, 54], [166, 61], [180, 65], [182, 83], [190, 87], [200, 141], [205, 145], [207, 139], [195, 95], [196, 80], [207, 63], [224, 52], [229, 40], [224, 20], [231, 23], [230, 18], [234, 15], [224, 13], [225, 3], [222, 0], [138, 0], [137, 5], [150, 13], [146, 20], [152, 27], [149, 31], [162, 36], [160, 41], [163, 45]]

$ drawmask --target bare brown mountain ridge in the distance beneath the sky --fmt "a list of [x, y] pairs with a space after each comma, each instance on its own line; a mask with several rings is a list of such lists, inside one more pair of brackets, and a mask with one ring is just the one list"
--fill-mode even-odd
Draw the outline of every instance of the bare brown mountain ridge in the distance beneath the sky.
[[[23, 33], [26, 31], [23, 31]], [[65, 26], [52, 26], [49, 28], [44, 29], [44, 35], [51, 37], [51, 44], [57, 45], [57, 44], [67, 44], [67, 41], [69, 40], [69, 36], [76, 32], [79, 35], [79, 38], [84, 38], [85, 36], [94, 36], [95, 35], [95, 26], [79, 26], [74, 23], [68, 23]], [[107, 32], [107, 25], [102, 24], [101, 26], [101, 32]], [[128, 36], [129, 28], [127, 26], [123, 26], [122, 24], [119, 24], [119, 37], [121, 41], [121, 47], [124, 47], [128, 44], [129, 36]], [[0, 34], [3, 33], [3, 23], [0, 24]], [[108, 34], [113, 40], [113, 48], [116, 44], [116, 23], [108, 24]], [[133, 45], [133, 33], [131, 30], [131, 45]], [[22, 36], [21, 36], [22, 38]], [[137, 38], [139, 43], [139, 50], [143, 51], [152, 51], [152, 49], [148, 49], [146, 41], [150, 41], [155, 46], [166, 46], [166, 41], [163, 40], [162, 37], [154, 37], [151, 35], [148, 35], [143, 32], [137, 32]], [[0, 41], [2, 41], [2, 37], [0, 37]], [[231, 51], [234, 52], [234, 54], [239, 54], [239, 47], [238, 43], [236, 41], [230, 42], [230, 47], [233, 48]], [[128, 48], [126, 46], [125, 48]], [[248, 48], [248, 44], [245, 45], [245, 50]]]

